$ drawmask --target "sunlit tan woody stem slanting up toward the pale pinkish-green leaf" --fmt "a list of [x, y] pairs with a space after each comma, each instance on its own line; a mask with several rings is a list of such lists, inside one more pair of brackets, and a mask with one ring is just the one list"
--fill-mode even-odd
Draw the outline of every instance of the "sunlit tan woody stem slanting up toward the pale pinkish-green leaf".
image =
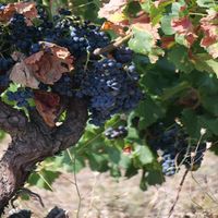
[[105, 52], [110, 52], [110, 51], [114, 50], [116, 48], [120, 47], [122, 44], [124, 44], [131, 37], [132, 37], [132, 33], [128, 33], [124, 37], [119, 37], [117, 40], [114, 40], [112, 44], [108, 45], [107, 47], [95, 49], [93, 53], [95, 56], [100, 56]]

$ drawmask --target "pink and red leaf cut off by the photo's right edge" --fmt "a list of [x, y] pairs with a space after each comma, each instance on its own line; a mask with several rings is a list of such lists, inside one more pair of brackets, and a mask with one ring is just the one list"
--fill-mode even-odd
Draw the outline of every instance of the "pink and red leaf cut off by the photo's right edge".
[[218, 58], [218, 12], [208, 11], [208, 15], [201, 20], [204, 37], [201, 46], [214, 58]]

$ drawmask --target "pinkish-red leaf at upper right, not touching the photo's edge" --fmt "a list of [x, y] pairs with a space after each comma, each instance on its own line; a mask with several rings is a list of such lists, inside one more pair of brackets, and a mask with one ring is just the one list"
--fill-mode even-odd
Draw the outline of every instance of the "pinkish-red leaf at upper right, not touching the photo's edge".
[[195, 34], [194, 26], [187, 16], [173, 19], [171, 26], [179, 36], [184, 37], [184, 46], [190, 48], [196, 40], [197, 35]]

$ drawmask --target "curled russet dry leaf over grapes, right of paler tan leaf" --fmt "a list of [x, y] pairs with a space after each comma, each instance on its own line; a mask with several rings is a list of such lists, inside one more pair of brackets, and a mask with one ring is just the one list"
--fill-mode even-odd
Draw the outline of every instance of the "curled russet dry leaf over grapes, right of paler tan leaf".
[[63, 73], [73, 70], [73, 58], [66, 48], [40, 43], [43, 50], [24, 60], [29, 71], [45, 84], [53, 84]]

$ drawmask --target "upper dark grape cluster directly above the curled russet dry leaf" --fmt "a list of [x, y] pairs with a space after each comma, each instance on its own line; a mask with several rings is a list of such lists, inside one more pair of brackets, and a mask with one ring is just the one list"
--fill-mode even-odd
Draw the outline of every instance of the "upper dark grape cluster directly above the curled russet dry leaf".
[[[59, 10], [59, 13], [71, 14], [68, 10]], [[80, 17], [66, 19], [61, 15], [56, 15], [57, 23], [52, 28], [52, 24], [49, 24], [49, 28], [44, 25], [44, 40], [68, 48], [77, 58], [109, 44], [109, 37], [100, 32], [100, 27], [88, 21], [82, 22]]]

